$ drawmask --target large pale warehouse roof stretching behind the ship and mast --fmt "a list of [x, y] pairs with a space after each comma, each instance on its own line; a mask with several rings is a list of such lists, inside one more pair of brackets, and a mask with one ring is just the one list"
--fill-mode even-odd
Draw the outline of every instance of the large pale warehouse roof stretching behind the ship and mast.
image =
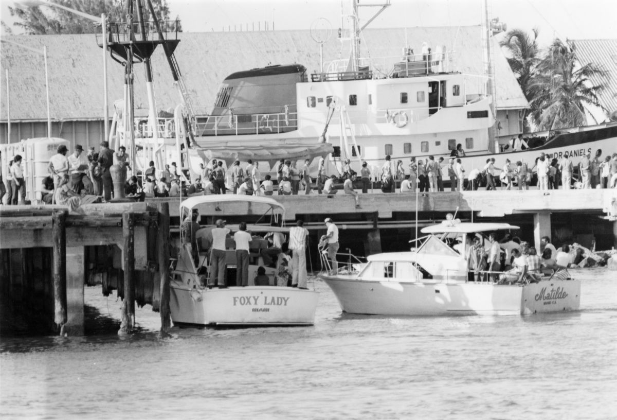
[[[297, 63], [314, 72], [320, 67], [319, 46], [309, 30], [181, 33], [176, 59], [197, 114], [210, 109], [222, 80], [233, 72], [268, 64]], [[102, 119], [102, 50], [94, 35], [17, 35], [6, 39], [31, 48], [47, 46], [51, 117], [54, 120]], [[479, 26], [435, 28], [368, 29], [362, 48], [370, 56], [400, 56], [407, 44], [416, 52], [421, 44], [445, 45], [455, 51], [457, 70], [482, 74], [482, 41]], [[333, 36], [324, 44], [324, 58], [338, 59], [340, 42]], [[362, 54], [365, 56], [365, 54]], [[44, 120], [47, 116], [42, 54], [13, 44], [0, 46], [0, 71], [9, 70], [10, 117], [12, 120]], [[180, 103], [162, 48], [152, 56], [154, 89], [159, 109]], [[497, 107], [525, 107], [527, 101], [499, 48], [495, 48]], [[123, 94], [123, 68], [108, 60], [109, 103]], [[3, 80], [4, 82], [4, 80]], [[143, 65], [136, 65], [136, 115], [147, 114]], [[0, 120], [6, 121], [6, 83], [1, 83]], [[112, 105], [110, 105], [110, 114]]]

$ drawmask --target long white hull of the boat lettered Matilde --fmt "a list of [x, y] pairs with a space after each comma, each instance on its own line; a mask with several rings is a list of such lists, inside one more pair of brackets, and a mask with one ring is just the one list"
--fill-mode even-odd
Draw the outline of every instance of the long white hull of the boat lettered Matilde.
[[405, 283], [320, 274], [351, 314], [423, 316], [446, 314], [534, 314], [576, 311], [580, 280], [545, 280], [526, 285]]

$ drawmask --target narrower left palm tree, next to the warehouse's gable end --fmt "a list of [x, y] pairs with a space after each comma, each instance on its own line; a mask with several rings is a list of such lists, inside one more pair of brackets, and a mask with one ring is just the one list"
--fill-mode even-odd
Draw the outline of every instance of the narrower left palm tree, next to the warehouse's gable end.
[[[508, 51], [508, 64], [510, 69], [516, 75], [518, 85], [528, 101], [533, 99], [532, 92], [529, 89], [534, 69], [540, 61], [539, 49], [537, 45], [537, 37], [539, 30], [534, 28], [533, 35], [525, 32], [522, 29], [510, 30], [505, 38], [500, 42], [500, 46]], [[526, 110], [524, 111], [526, 114]], [[523, 115], [523, 132], [529, 132], [529, 123], [526, 115]]]

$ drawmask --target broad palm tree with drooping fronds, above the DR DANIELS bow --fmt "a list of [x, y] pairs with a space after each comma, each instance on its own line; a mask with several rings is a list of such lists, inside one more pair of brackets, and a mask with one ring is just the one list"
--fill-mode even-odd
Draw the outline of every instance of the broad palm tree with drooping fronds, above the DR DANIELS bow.
[[536, 73], [529, 85], [534, 124], [540, 130], [586, 124], [584, 105], [605, 109], [598, 101], [598, 93], [604, 85], [594, 86], [590, 82], [590, 77], [603, 73], [593, 63], [578, 63], [576, 44], [567, 40], [565, 43], [554, 40], [547, 56], [537, 64]]

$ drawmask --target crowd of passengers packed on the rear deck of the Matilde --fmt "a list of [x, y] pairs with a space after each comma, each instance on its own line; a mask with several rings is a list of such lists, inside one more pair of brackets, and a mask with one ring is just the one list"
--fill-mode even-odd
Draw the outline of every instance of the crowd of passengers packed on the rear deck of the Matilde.
[[468, 235], [465, 244], [460, 237], [456, 242], [452, 248], [465, 256], [469, 280], [475, 282], [539, 282], [544, 275], [553, 275], [576, 263], [577, 258], [569, 245], [555, 248], [547, 236], [541, 238], [540, 250], [510, 233], [499, 241], [495, 233], [489, 233], [484, 243], [479, 234]]

